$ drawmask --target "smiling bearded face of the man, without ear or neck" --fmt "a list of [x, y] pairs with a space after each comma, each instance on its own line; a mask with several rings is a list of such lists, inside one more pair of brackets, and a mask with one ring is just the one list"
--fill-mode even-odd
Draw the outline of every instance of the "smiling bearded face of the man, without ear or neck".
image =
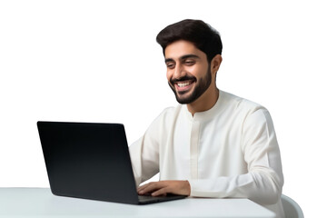
[[191, 104], [212, 83], [206, 54], [184, 40], [173, 42], [164, 51], [168, 84], [180, 104]]

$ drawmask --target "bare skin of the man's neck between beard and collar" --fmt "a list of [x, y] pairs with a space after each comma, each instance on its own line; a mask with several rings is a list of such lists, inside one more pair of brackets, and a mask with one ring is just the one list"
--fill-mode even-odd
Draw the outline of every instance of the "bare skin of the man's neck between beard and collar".
[[193, 103], [187, 104], [188, 111], [194, 115], [197, 112], [204, 112], [213, 108], [219, 98], [219, 89], [214, 86], [214, 88], [208, 88], [207, 91], [203, 93], [198, 99]]

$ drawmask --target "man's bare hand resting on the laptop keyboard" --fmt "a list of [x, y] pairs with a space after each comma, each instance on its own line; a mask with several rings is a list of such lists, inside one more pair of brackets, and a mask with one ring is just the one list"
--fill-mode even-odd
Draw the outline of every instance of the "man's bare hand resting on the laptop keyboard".
[[167, 193], [181, 194], [189, 196], [191, 185], [188, 181], [166, 180], [146, 183], [137, 188], [139, 194], [151, 194], [153, 196], [166, 195]]

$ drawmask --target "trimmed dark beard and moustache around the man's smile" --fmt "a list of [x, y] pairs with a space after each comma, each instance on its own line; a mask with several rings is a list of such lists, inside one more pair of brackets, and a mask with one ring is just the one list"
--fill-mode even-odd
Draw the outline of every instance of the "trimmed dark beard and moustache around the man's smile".
[[[213, 80], [213, 76], [211, 74], [210, 70], [210, 64], [208, 66], [207, 73], [205, 74], [204, 77], [200, 78], [198, 81], [194, 76], [186, 75], [183, 76], [179, 79], [171, 79], [168, 84], [173, 90], [173, 94], [175, 94], [176, 100], [179, 104], [191, 104], [193, 103], [196, 99], [198, 99], [210, 86]], [[192, 80], [193, 83], [195, 84], [195, 87], [193, 88], [192, 94], [188, 94], [187, 96], [183, 96], [185, 92], [178, 92], [176, 91], [175, 87], [173, 84], [177, 82], [182, 82], [186, 80]]]

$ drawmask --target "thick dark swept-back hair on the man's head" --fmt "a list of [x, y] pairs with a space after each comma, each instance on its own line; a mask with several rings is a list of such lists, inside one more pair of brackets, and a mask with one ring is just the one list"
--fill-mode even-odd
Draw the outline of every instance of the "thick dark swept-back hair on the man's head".
[[165, 48], [178, 40], [193, 43], [207, 56], [210, 63], [216, 54], [222, 54], [223, 44], [219, 33], [202, 20], [186, 19], [166, 26], [156, 37], [156, 41]]

